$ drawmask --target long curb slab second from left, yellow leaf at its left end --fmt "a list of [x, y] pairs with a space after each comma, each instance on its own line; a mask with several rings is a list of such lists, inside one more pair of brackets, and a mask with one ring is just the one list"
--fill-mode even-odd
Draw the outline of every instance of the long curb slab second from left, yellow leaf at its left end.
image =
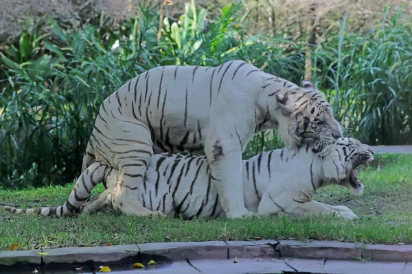
[[[49, 252], [43, 256], [45, 264], [83, 263], [93, 262], [133, 262], [138, 256], [137, 245], [111, 245], [108, 247], [62, 247], [56, 249], [43, 249]], [[134, 260], [133, 260], [134, 259]]]

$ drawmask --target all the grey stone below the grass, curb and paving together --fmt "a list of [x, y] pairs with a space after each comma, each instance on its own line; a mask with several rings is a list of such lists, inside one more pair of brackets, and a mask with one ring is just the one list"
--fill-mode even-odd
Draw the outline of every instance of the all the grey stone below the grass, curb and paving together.
[[[412, 245], [357, 245], [351, 242], [298, 240], [157, 242], [143, 245], [73, 247], [1, 251], [0, 273], [92, 273], [91, 265], [108, 265], [111, 273], [138, 273], [134, 262], [150, 273], [324, 273], [412, 274]], [[361, 260], [361, 258], [366, 260]], [[236, 259], [237, 263], [233, 260]], [[157, 262], [148, 266], [149, 260]], [[30, 266], [16, 269], [22, 262]], [[8, 266], [6, 266], [8, 265]], [[58, 270], [53, 270], [52, 268]], [[88, 269], [89, 268], [89, 269]], [[45, 270], [44, 270], [45, 269]], [[89, 271], [89, 272], [87, 272]], [[283, 272], [282, 272], [283, 271]]]

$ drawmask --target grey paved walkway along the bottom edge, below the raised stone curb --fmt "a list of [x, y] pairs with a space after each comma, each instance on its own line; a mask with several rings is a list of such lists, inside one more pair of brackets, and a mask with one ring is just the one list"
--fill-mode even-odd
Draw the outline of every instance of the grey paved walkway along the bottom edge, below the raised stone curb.
[[[20, 274], [31, 274], [34, 269], [18, 271]], [[131, 274], [131, 273], [168, 273], [168, 274], [289, 274], [289, 273], [313, 273], [313, 274], [411, 274], [412, 263], [405, 262], [361, 262], [345, 260], [306, 260], [306, 259], [248, 259], [239, 258], [235, 264], [233, 260], [192, 260], [173, 262], [172, 264], [157, 264], [145, 269], [130, 269], [130, 265], [115, 267], [111, 266], [110, 273]], [[5, 271], [2, 274], [14, 274], [16, 272]], [[66, 274], [75, 273], [70, 268], [60, 271], [41, 271], [38, 274]], [[84, 267], [82, 271], [76, 273], [93, 273], [89, 268]], [[97, 271], [95, 273], [98, 273]]]

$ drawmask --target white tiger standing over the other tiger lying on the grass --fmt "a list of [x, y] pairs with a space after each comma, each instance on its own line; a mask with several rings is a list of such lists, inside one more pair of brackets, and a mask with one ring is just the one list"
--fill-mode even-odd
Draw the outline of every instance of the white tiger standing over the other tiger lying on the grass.
[[[115, 169], [120, 183], [111, 196], [113, 206], [124, 214], [157, 214], [135, 199], [152, 154], [200, 153], [207, 157], [227, 216], [248, 216], [242, 200], [242, 151], [253, 134], [278, 129], [293, 148], [304, 138], [316, 138], [314, 149], [320, 155], [342, 136], [323, 94], [308, 80], [303, 86], [243, 61], [218, 67], [161, 66], [141, 73], [100, 106], [78, 182]], [[77, 212], [90, 197], [82, 190], [79, 184], [57, 213]]]

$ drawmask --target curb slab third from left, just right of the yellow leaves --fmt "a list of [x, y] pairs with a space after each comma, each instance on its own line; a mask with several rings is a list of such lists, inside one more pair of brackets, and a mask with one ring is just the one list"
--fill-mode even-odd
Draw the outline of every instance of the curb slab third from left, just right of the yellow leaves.
[[210, 242], [152, 242], [137, 245], [141, 256], [164, 256], [174, 262], [181, 260], [227, 259], [223, 241]]

